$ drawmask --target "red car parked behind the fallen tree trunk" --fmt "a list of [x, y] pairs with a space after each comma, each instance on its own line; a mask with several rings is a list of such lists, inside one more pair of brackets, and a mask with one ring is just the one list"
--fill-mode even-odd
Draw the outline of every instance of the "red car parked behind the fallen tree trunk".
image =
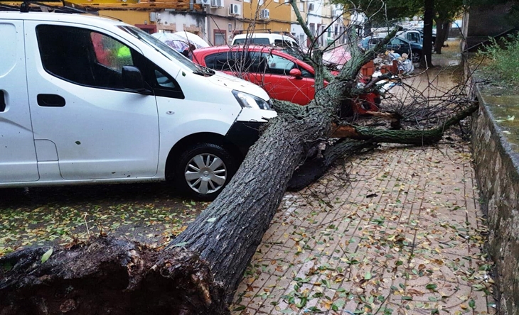
[[[272, 99], [306, 105], [315, 96], [314, 68], [280, 48], [255, 45], [200, 48], [193, 51], [193, 62], [260, 85]], [[378, 111], [373, 101], [375, 95], [368, 96], [359, 97], [353, 106], [349, 102], [348, 111], [357, 114]]]

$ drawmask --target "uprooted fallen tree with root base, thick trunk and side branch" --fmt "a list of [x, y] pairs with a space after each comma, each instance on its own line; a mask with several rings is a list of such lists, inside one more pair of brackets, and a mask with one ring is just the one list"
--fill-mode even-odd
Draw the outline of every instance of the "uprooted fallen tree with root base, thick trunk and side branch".
[[[45, 262], [42, 249], [1, 258], [0, 315], [229, 314], [228, 302], [294, 170], [316, 144], [336, 131], [332, 121], [341, 98], [353, 96], [356, 74], [371, 57], [373, 53], [353, 55], [308, 106], [277, 102], [279, 115], [264, 129], [228, 187], [159, 253], [100, 238], [72, 250], [56, 249]], [[362, 140], [405, 143], [400, 140], [403, 133], [351, 128]], [[416, 131], [411, 138], [428, 143], [424, 132]], [[441, 138], [432, 136], [430, 142]]]

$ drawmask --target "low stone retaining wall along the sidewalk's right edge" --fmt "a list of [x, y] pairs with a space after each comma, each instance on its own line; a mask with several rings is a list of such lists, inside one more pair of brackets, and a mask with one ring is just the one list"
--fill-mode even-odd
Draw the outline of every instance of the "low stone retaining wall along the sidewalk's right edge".
[[[488, 215], [488, 252], [496, 263], [499, 314], [515, 315], [519, 314], [519, 137], [514, 135], [519, 131], [508, 131], [501, 116], [496, 118], [503, 114], [495, 103], [499, 97], [481, 87], [476, 87], [476, 95], [480, 109], [473, 117], [472, 147], [481, 203]], [[496, 114], [494, 107], [501, 112]], [[505, 121], [514, 119], [507, 117]]]

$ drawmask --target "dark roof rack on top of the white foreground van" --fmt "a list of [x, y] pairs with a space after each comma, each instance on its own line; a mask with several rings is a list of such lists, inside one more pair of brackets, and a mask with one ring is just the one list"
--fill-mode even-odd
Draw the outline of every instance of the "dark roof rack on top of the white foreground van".
[[[16, 6], [18, 3], [20, 3], [20, 5]], [[89, 10], [65, 0], [45, 0], [44, 2], [0, 0], [0, 9], [20, 12], [89, 13], [98, 15], [97, 11], [92, 9]]]

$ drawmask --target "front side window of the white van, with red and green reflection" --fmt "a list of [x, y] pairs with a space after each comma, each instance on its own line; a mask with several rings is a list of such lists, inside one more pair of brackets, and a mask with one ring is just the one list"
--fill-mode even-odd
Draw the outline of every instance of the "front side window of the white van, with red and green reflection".
[[36, 36], [46, 72], [90, 87], [122, 89], [122, 67], [134, 65], [137, 53], [87, 28], [39, 25]]

